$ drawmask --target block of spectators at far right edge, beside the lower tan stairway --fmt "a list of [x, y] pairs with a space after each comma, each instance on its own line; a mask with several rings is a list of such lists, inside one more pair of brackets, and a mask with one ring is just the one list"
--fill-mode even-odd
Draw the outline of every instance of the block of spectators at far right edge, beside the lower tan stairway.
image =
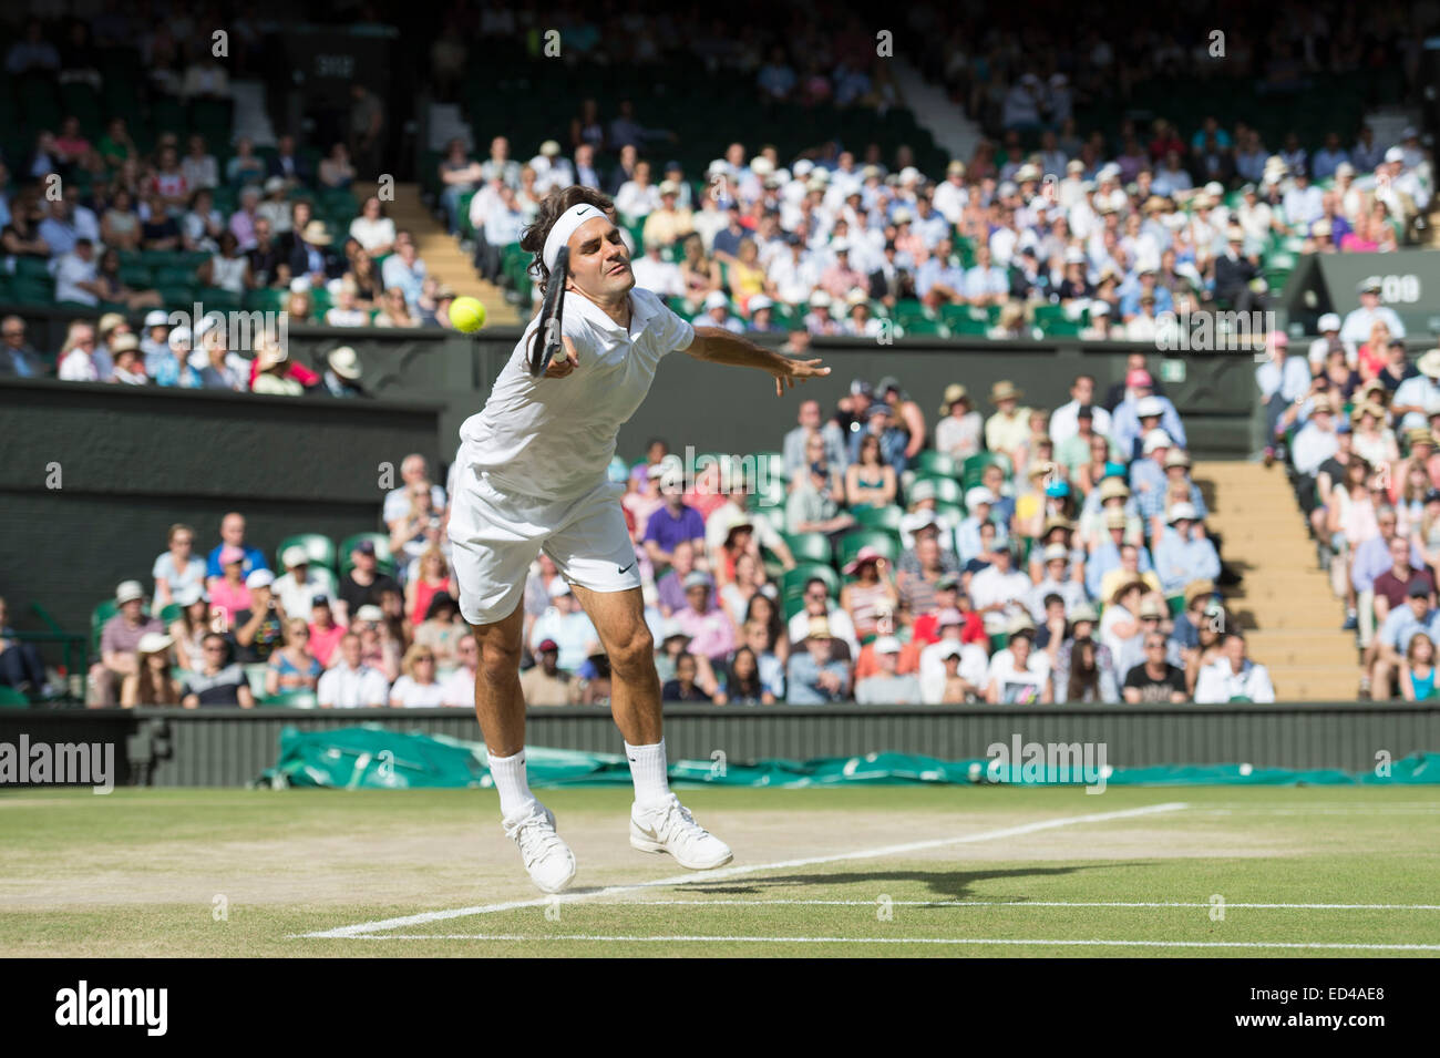
[[1256, 381], [1266, 459], [1286, 461], [1322, 569], [1361, 648], [1362, 697], [1436, 695], [1440, 643], [1440, 350], [1405, 354], [1405, 327], [1364, 279], [1359, 307], [1320, 318], [1292, 354], [1272, 335]]

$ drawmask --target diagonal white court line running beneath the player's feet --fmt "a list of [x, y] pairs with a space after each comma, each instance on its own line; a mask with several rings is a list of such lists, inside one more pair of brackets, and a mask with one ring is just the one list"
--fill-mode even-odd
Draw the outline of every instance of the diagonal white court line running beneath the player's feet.
[[1020, 826], [1005, 826], [998, 831], [981, 831], [979, 833], [966, 833], [959, 838], [933, 838], [930, 841], [913, 841], [904, 845], [884, 845], [880, 848], [860, 849], [855, 852], [837, 852], [824, 856], [805, 856], [801, 859], [778, 859], [770, 864], [747, 864], [743, 867], [724, 867], [716, 871], [690, 871], [687, 874], [677, 874], [670, 878], [657, 878], [648, 882], [634, 882], [629, 885], [606, 885], [600, 890], [593, 890], [590, 892], [573, 892], [569, 895], [557, 897], [534, 897], [530, 900], [510, 900], [501, 904], [480, 904], [475, 907], [456, 907], [445, 911], [423, 911], [420, 914], [402, 915], [399, 918], [382, 918], [373, 923], [357, 923], [356, 926], [338, 926], [333, 930], [320, 930], [317, 933], [300, 933], [291, 934], [291, 940], [297, 939], [337, 939], [337, 937], [361, 937], [370, 933], [380, 933], [383, 930], [397, 930], [405, 926], [423, 926], [425, 923], [446, 921], [449, 918], [467, 918], [477, 914], [494, 914], [497, 911], [514, 911], [523, 907], [549, 907], [552, 903], [577, 903], [582, 900], [595, 900], [598, 897], [613, 897], [621, 892], [635, 892], [636, 890], [652, 888], [657, 885], [694, 885], [696, 882], [710, 882], [720, 881], [723, 878], [734, 878], [744, 874], [756, 874], [759, 871], [783, 871], [792, 867], [809, 867], [812, 864], [835, 864], [847, 859], [874, 859], [877, 856], [897, 856], [906, 855], [909, 852], [920, 852], [923, 849], [943, 848], [945, 845], [965, 845], [981, 841], [996, 841], [999, 838], [1018, 838], [1027, 833], [1037, 833], [1040, 831], [1054, 831], [1061, 826], [1076, 826], [1080, 823], [1104, 823], [1113, 819], [1133, 819], [1136, 816], [1148, 816], [1159, 812], [1179, 812], [1181, 809], [1189, 808], [1185, 802], [1169, 800], [1162, 805], [1146, 805], [1143, 808], [1129, 808], [1119, 812], [1092, 812], [1083, 816], [1063, 816], [1060, 819], [1041, 819], [1034, 823], [1021, 823]]

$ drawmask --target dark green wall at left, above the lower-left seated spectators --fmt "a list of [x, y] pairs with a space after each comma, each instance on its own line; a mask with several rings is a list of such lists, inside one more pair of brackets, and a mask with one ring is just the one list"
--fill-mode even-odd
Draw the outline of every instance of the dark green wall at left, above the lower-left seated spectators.
[[[292, 533], [379, 527], [382, 462], [435, 461], [439, 407], [0, 380], [0, 593], [20, 629], [40, 602], [66, 630], [150, 570], [166, 530], [219, 543], [233, 510], [266, 553]], [[50, 466], [59, 466], [59, 488]]]

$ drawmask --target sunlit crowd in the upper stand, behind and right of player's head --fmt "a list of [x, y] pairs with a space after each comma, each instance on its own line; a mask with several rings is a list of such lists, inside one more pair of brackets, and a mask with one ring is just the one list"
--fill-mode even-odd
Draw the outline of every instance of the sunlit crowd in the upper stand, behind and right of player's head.
[[1248, 155], [1207, 166], [1169, 127], [1145, 147], [1130, 127], [1117, 144], [1096, 134], [1025, 151], [1017, 140], [943, 176], [834, 144], [786, 160], [773, 147], [747, 158], [736, 143], [703, 184], [632, 143], [612, 157], [580, 143], [570, 160], [550, 140], [518, 164], [495, 137], [485, 161], [451, 144], [441, 199], [452, 227], [468, 202], [477, 265], [503, 279], [552, 187], [605, 190], [639, 284], [677, 311], [733, 330], [852, 337], [1149, 341], [1169, 312], [1269, 307], [1267, 276], [1289, 265], [1267, 262], [1395, 249], [1424, 223], [1433, 168], [1414, 130], [1384, 150], [1362, 130], [1349, 151], [1332, 132], [1313, 155], [1293, 137], [1270, 150], [1243, 124], [1215, 134], [1250, 144], [1254, 171]]

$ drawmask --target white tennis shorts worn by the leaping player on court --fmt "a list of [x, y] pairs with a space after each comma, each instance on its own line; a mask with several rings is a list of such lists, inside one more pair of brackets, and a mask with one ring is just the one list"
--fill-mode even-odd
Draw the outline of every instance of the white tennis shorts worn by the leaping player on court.
[[639, 587], [624, 494], [624, 484], [603, 479], [576, 499], [524, 497], [461, 468], [449, 538], [465, 620], [492, 625], [514, 613], [541, 548], [572, 584], [592, 592]]

